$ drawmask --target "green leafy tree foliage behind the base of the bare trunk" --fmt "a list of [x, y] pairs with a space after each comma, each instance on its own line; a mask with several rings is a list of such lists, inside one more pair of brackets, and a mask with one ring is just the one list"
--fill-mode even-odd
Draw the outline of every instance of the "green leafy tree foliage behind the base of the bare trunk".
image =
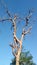
[[[21, 54], [20, 54], [20, 65], [36, 65], [32, 59], [33, 59], [33, 57], [29, 51], [21, 52]], [[15, 64], [16, 64], [16, 59], [14, 58], [10, 65], [15, 65]]]

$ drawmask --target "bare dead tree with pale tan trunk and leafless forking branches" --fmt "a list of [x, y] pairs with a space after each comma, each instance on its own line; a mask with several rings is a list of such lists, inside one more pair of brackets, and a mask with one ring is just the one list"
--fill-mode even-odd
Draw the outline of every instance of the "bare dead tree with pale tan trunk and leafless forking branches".
[[[16, 58], [16, 65], [19, 65], [19, 59], [20, 59], [20, 53], [21, 53], [21, 50], [22, 50], [23, 39], [30, 32], [30, 30], [32, 29], [32, 26], [30, 26], [28, 28], [28, 30], [26, 30], [26, 28], [25, 28], [25, 27], [27, 27], [29, 25], [29, 19], [32, 16], [32, 12], [29, 12], [29, 15], [26, 16], [25, 18], [21, 18], [21, 17], [19, 17], [17, 15], [14, 15], [13, 18], [12, 18], [11, 14], [8, 11], [8, 9], [6, 10], [6, 13], [8, 14], [9, 18], [1, 19], [0, 22], [8, 20], [9, 22], [12, 23], [14, 43], [12, 42], [12, 44], [10, 44], [10, 46], [12, 48], [12, 54]], [[16, 36], [16, 32], [17, 32], [16, 31], [17, 30], [17, 26], [16, 26], [17, 21], [16, 20], [20, 20], [20, 22], [23, 20], [25, 22], [25, 26], [23, 27], [20, 39]], [[20, 25], [20, 23], [19, 23], [19, 25]], [[20, 28], [22, 28], [22, 27], [20, 27]]]

